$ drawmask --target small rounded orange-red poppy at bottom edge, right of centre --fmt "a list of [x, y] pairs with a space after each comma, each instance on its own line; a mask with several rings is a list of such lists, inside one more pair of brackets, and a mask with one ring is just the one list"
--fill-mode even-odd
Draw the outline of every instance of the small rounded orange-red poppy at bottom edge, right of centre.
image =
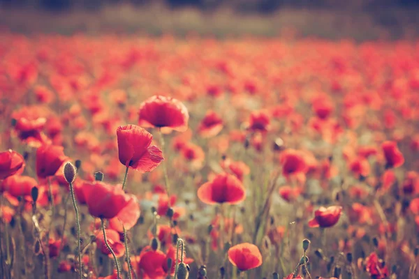
[[247, 271], [262, 264], [262, 255], [257, 246], [241, 243], [228, 249], [228, 260], [240, 271]]

